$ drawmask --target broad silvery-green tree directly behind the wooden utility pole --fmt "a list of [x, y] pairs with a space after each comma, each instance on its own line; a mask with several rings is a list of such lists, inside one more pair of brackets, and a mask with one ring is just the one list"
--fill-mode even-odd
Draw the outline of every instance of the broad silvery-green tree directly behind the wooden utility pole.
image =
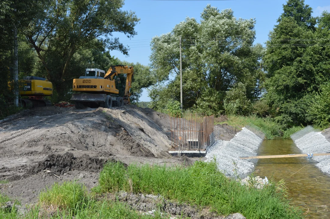
[[207, 5], [200, 23], [187, 17], [170, 33], [154, 37], [150, 66], [158, 84], [149, 94], [151, 106], [161, 110], [169, 99], [180, 101], [180, 36], [184, 109], [218, 113], [225, 92], [238, 82], [245, 84], [249, 99], [258, 98], [263, 48], [251, 46], [254, 24], [253, 19], [235, 18], [231, 9], [220, 12]]

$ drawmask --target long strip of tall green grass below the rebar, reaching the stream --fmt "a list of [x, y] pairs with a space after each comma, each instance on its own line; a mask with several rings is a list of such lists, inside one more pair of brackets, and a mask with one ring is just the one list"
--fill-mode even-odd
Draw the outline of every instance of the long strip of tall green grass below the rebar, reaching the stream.
[[302, 212], [288, 204], [285, 192], [275, 183], [262, 190], [242, 186], [217, 170], [214, 162], [196, 162], [190, 167], [108, 163], [100, 173], [97, 193], [133, 191], [160, 194], [167, 199], [200, 207], [211, 207], [228, 215], [239, 212], [248, 219], [302, 218]]

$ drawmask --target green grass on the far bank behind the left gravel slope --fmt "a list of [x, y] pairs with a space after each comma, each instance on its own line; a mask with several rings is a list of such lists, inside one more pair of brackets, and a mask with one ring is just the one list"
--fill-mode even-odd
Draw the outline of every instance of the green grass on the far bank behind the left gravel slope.
[[270, 118], [260, 118], [257, 116], [228, 116], [227, 123], [233, 127], [242, 128], [246, 125], [257, 126], [265, 134], [267, 139], [281, 136], [280, 125], [271, 121]]

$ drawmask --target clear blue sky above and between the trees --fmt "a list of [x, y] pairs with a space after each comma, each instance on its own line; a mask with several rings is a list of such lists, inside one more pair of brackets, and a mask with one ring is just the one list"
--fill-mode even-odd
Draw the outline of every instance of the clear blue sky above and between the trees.
[[[219, 10], [231, 8], [235, 17], [255, 18], [256, 40], [255, 43], [264, 43], [268, 39], [269, 31], [276, 24], [277, 18], [282, 13], [282, 5], [285, 0], [234, 0], [234, 1], [148, 1], [125, 0], [123, 10], [135, 11], [141, 18], [135, 27], [138, 34], [129, 40], [123, 34], [114, 34], [120, 41], [131, 47], [129, 56], [122, 55], [118, 51], [111, 51], [111, 55], [128, 62], [149, 64], [150, 47], [152, 37], [168, 33], [172, 28], [183, 21], [187, 16], [194, 17], [198, 21], [204, 7], [210, 3]], [[330, 1], [305, 0], [305, 4], [313, 8], [313, 15], [318, 16], [322, 11], [330, 12]], [[140, 101], [149, 101], [148, 92], [144, 90]]]

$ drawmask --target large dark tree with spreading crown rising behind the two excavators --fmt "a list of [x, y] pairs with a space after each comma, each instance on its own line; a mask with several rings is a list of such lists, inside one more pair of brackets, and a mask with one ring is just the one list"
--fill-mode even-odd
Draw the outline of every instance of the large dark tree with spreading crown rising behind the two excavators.
[[132, 11], [121, 10], [123, 0], [36, 2], [38, 7], [24, 34], [60, 97], [65, 95], [63, 85], [72, 83], [75, 73], [69, 68], [77, 52], [108, 48], [127, 55], [128, 49], [112, 35], [120, 32], [131, 38], [137, 34], [134, 27], [140, 19]]

